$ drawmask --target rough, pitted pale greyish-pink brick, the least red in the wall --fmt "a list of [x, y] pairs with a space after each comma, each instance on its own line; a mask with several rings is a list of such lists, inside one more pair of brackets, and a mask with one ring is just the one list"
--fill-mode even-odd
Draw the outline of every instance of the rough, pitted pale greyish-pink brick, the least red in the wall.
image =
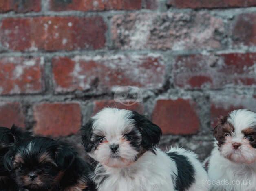
[[111, 30], [121, 49], [214, 49], [226, 33], [223, 20], [203, 11], [115, 15]]

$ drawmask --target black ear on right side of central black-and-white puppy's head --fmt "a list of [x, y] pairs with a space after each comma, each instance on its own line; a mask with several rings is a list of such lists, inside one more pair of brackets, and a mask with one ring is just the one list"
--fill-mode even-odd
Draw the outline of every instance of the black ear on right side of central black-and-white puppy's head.
[[142, 135], [142, 146], [147, 150], [154, 150], [162, 135], [161, 128], [136, 111], [132, 113], [131, 118], [135, 120]]

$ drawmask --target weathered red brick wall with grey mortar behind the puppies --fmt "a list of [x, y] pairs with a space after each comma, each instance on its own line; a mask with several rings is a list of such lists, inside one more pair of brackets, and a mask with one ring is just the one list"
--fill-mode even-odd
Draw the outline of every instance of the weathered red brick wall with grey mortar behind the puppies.
[[[256, 111], [256, 0], [0, 0], [0, 125], [79, 143], [104, 106], [204, 158], [212, 126]], [[136, 86], [143, 101], [115, 101]], [[132, 97], [131, 97], [132, 99]]]

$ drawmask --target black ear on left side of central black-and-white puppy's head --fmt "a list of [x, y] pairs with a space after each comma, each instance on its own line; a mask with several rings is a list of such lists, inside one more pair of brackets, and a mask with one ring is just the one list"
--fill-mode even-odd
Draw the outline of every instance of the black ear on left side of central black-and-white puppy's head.
[[90, 140], [93, 132], [93, 120], [90, 119], [84, 126], [81, 128], [82, 132], [82, 144], [86, 152], [91, 152], [93, 148], [93, 142]]

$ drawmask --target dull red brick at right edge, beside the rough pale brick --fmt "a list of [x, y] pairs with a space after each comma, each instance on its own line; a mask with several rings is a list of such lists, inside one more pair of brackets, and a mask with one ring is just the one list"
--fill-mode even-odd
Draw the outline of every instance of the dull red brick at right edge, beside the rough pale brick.
[[231, 37], [234, 45], [255, 46], [256, 13], [238, 15], [232, 24]]

